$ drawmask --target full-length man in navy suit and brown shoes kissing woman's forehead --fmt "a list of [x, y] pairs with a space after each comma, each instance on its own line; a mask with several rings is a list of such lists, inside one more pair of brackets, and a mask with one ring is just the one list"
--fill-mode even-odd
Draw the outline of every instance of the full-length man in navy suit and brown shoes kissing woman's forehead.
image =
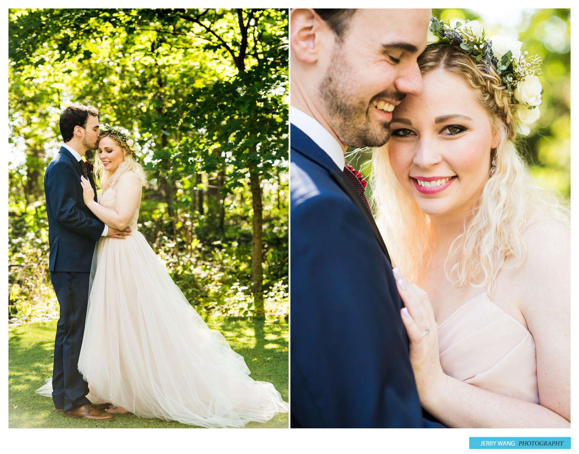
[[82, 156], [96, 148], [100, 132], [98, 110], [70, 106], [60, 115], [59, 126], [64, 145], [50, 161], [44, 176], [50, 280], [60, 306], [54, 340], [52, 398], [57, 411], [64, 411], [65, 416], [110, 420], [112, 415], [99, 411], [104, 406], [91, 405], [87, 399], [89, 387], [78, 371], [78, 358], [85, 331], [94, 246], [102, 236], [124, 239], [130, 229], [119, 231], [105, 226], [82, 198], [80, 176], [87, 178], [94, 193], [97, 192]]

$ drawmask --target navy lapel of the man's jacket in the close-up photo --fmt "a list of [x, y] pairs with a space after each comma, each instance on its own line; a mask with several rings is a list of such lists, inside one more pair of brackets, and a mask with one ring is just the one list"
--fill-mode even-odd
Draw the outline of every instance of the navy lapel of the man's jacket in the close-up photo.
[[364, 201], [362, 201], [360, 194], [357, 193], [356, 188], [354, 188], [350, 180], [346, 177], [346, 175], [344, 175], [343, 169], [338, 169], [338, 166], [336, 166], [335, 162], [332, 161], [332, 158], [330, 158], [324, 150], [318, 147], [318, 145], [312, 139], [310, 139], [306, 133], [294, 125], [291, 125], [291, 146], [306, 158], [316, 162], [316, 164], [321, 165], [323, 168], [328, 170], [332, 179], [338, 183], [338, 186], [342, 188], [348, 197], [352, 199], [354, 204], [358, 206], [368, 221], [368, 224], [370, 224], [372, 232], [376, 237], [376, 240], [378, 240], [380, 248], [383, 250], [384, 254], [386, 254], [386, 258], [388, 259], [390, 266], [392, 266], [390, 254], [388, 253], [388, 249], [386, 249], [386, 244], [384, 244], [384, 239], [378, 230], [378, 226], [376, 226], [376, 221], [368, 212], [368, 209], [364, 205]]

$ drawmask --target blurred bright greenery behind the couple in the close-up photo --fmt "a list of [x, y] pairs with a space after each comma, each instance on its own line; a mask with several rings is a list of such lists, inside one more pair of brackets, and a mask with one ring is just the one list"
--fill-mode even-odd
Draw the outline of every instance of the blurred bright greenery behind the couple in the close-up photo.
[[[570, 9], [437, 9], [438, 19], [464, 23], [478, 20], [486, 34], [511, 35], [523, 42], [523, 51], [543, 59], [541, 117], [530, 135], [520, 136], [518, 149], [538, 181], [571, 197], [571, 11]], [[435, 37], [428, 32], [429, 41]], [[349, 150], [347, 164], [368, 177], [371, 152]], [[369, 195], [370, 185], [367, 186]]]

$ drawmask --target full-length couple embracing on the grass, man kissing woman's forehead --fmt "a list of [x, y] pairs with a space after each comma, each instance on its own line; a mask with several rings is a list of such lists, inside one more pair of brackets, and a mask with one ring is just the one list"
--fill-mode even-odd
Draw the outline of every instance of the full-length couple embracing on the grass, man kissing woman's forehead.
[[[45, 173], [60, 318], [53, 378], [36, 392], [64, 416], [90, 420], [131, 412], [243, 427], [287, 412], [273, 385], [252, 380], [243, 357], [207, 327], [138, 231], [140, 146], [120, 126], [101, 131], [98, 113], [63, 111], [64, 145]], [[93, 165], [82, 159], [95, 149], [98, 197]]]

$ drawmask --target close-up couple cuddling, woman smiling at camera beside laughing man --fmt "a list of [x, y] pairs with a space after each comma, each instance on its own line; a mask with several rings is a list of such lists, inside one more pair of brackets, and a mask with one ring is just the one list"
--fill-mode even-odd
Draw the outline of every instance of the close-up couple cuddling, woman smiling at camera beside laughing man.
[[516, 147], [540, 59], [419, 9], [290, 39], [291, 427], [570, 427], [569, 210]]

